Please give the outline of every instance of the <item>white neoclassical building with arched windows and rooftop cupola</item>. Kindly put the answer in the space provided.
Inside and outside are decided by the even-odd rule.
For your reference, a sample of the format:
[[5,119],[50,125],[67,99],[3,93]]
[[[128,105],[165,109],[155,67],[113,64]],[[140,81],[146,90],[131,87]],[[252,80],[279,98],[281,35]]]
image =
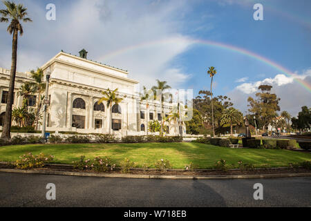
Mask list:
[[[116,135],[146,135],[148,122],[160,119],[160,102],[141,101],[139,81],[129,78],[126,70],[90,61],[86,50],[79,52],[79,57],[66,52],[59,52],[41,68],[46,73],[50,69],[48,88],[48,115],[46,131],[73,131],[78,133],[109,133]],[[0,68],[0,129],[6,111],[6,97],[10,79],[10,70]],[[15,100],[13,108],[22,105],[23,98],[18,95],[19,88],[32,81],[30,73],[17,73]],[[122,102],[110,110],[106,103],[97,104],[102,91],[118,88]],[[38,95],[30,95],[28,106],[35,106]],[[173,104],[164,103],[165,115],[169,115]],[[14,124],[14,122],[12,122]],[[185,126],[166,122],[169,135],[178,135],[178,130],[185,134]],[[149,133],[150,134],[150,133]]]

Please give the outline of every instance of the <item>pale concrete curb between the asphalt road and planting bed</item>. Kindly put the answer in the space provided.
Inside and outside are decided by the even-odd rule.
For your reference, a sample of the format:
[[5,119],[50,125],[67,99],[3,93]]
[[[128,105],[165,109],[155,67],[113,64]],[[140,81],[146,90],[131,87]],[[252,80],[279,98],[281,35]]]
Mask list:
[[264,179],[278,177],[308,177],[311,173],[283,173],[260,175],[136,175],[136,174],[109,174],[109,173],[84,173],[68,171],[23,171],[17,169],[0,169],[4,173],[30,173],[44,175],[69,175],[79,177],[113,177],[132,179],[158,179],[158,180],[227,180],[227,179]]

